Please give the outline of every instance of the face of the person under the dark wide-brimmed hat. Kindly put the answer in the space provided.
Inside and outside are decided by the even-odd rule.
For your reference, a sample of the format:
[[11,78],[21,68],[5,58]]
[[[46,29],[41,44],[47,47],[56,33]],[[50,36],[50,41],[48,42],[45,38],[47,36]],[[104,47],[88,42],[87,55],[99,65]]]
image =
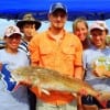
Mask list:
[[32,34],[35,32],[35,24],[32,23],[25,23],[22,28],[22,32],[25,37],[32,37]]

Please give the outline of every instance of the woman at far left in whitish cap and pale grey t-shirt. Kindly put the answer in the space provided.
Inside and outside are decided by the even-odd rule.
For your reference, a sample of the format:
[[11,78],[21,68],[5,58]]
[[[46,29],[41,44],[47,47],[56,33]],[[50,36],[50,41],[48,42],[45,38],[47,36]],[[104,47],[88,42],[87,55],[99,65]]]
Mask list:
[[[0,50],[1,65],[8,64],[10,72],[18,67],[28,66],[26,54],[18,51],[21,42],[20,30],[14,25],[9,26],[4,33],[4,41],[6,47]],[[2,73],[0,75],[2,76]],[[20,86],[15,91],[9,92],[4,80],[0,78],[0,108],[1,110],[29,110],[26,88]]]

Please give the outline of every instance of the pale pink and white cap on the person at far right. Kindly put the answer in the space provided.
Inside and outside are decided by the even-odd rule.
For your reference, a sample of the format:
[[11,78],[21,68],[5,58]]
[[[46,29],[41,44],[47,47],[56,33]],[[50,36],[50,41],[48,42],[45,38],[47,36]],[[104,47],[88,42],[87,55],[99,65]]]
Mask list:
[[92,31],[92,30],[95,30],[95,29],[99,29],[99,30],[107,30],[107,32],[109,31],[108,30],[108,26],[107,26],[107,24],[106,24],[106,22],[105,21],[96,21],[96,22],[94,22],[92,24],[91,24],[91,26],[90,26],[90,32]]

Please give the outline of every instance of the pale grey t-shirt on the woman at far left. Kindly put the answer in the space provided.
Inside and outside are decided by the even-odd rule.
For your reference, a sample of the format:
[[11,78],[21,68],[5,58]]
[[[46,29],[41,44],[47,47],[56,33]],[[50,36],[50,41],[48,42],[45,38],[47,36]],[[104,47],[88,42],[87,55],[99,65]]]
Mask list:
[[[8,64],[10,70],[21,66],[28,66],[29,59],[25,53],[7,53],[0,50],[0,63]],[[0,110],[29,110],[28,91],[24,86],[20,86],[16,91],[9,92],[2,79],[0,79]]]

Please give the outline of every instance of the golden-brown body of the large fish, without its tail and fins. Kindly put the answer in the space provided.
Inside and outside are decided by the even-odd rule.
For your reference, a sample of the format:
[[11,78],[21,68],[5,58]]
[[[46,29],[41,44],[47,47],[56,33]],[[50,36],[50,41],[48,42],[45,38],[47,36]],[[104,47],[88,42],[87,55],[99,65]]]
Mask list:
[[98,91],[95,90],[87,82],[70,78],[61,73],[43,67],[20,67],[12,72],[12,77],[15,81],[26,81],[28,80],[34,87],[38,87],[44,90],[58,90],[66,92],[78,94],[81,89],[86,90],[91,96],[98,96]]

